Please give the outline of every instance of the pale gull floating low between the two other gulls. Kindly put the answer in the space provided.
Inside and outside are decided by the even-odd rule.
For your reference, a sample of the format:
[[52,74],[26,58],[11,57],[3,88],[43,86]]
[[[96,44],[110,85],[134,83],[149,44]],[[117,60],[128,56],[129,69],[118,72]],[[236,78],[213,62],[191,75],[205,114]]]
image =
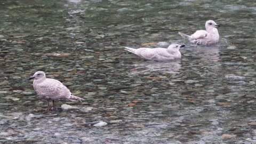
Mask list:
[[138,55],[143,60],[154,60],[154,61],[168,61],[181,58],[181,53],[179,51],[180,47],[185,45],[171,44],[167,49],[162,47],[157,47],[154,49],[141,47],[139,49],[133,49],[130,47],[125,47],[126,51]]

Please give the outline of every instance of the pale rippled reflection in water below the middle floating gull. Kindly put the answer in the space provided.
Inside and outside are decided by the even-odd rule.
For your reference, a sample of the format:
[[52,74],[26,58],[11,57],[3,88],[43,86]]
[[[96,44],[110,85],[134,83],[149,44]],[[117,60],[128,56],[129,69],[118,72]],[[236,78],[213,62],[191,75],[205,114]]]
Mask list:
[[181,67],[181,61],[139,61],[134,63],[134,71],[131,74],[149,74],[154,71],[161,71],[163,73],[178,74]]

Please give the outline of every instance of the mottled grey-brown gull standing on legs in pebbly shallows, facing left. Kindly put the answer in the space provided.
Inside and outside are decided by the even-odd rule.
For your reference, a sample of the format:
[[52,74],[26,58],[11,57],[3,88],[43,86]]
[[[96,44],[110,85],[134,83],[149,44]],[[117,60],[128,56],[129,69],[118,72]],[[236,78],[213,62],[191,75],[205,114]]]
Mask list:
[[49,111],[49,101],[52,100],[52,110],[54,110],[54,100],[69,99],[69,100],[84,100],[73,95],[68,88],[60,81],[52,78],[46,78],[44,71],[36,71],[29,79],[34,79],[33,87],[36,93],[47,100],[47,111]]

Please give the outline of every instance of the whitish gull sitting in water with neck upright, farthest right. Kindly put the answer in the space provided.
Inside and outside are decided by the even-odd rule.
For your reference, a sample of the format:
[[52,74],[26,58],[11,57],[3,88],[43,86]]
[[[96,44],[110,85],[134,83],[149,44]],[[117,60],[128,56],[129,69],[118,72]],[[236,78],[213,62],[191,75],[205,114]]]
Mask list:
[[213,20],[208,20],[205,23],[206,30],[197,30],[191,36],[180,32],[179,34],[183,38],[188,39],[191,43],[198,45],[211,45],[219,42],[220,36],[217,29],[218,27],[220,27],[220,25],[217,25]]

